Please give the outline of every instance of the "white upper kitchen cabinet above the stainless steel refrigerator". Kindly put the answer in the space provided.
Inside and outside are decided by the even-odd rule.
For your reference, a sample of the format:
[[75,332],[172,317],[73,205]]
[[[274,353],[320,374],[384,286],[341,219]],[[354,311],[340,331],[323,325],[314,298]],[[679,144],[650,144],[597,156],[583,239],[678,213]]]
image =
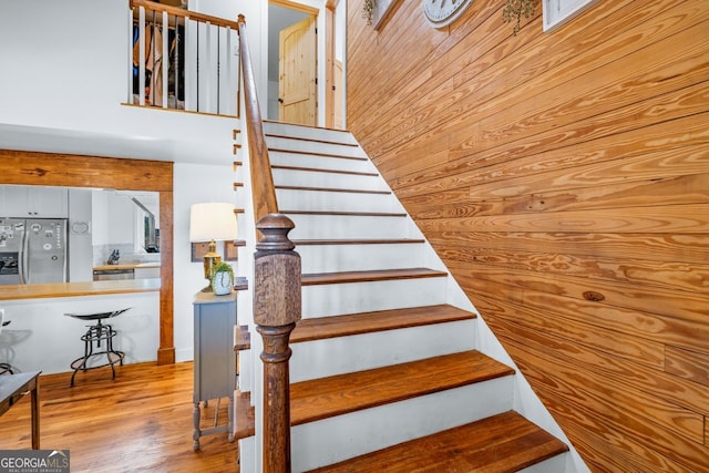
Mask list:
[[69,192],[62,187],[13,186],[0,188],[3,217],[66,218]]

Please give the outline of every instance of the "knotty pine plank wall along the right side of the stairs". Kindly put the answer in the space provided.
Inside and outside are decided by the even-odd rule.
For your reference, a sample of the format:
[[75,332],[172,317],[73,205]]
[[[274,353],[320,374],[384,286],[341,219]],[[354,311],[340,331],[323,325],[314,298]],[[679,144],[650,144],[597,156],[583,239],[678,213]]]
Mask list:
[[709,471],[709,2],[348,1],[348,125],[594,471]]

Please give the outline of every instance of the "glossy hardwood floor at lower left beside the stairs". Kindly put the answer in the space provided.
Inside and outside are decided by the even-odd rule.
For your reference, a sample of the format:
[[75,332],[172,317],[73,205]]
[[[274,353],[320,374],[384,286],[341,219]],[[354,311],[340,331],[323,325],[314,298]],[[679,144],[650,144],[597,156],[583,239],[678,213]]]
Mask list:
[[[192,441],[192,362],[127,364],[40,378],[41,448],[70,450],[72,472],[238,472],[237,443],[226,433]],[[218,423],[227,422],[228,399]],[[214,425],[216,401],[203,415]],[[29,449],[30,399],[0,418],[0,450]]]

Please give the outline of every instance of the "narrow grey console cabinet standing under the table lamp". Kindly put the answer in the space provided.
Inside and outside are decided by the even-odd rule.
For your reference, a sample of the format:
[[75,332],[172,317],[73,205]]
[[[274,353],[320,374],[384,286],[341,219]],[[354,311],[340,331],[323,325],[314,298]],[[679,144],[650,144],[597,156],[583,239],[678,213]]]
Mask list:
[[[234,390],[236,389],[236,291],[226,296],[197,292],[194,301],[194,449],[199,450],[203,435],[228,432],[234,441]],[[213,399],[229,398],[227,425],[201,429],[202,408]]]

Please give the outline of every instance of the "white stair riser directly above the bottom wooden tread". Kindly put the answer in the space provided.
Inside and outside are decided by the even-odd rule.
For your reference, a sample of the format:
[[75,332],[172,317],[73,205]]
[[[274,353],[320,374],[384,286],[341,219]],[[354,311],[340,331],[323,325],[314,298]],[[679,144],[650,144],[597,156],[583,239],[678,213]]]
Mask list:
[[[512,409],[505,377],[291,429],[292,471],[340,462]],[[395,425],[395,429],[393,428]]]

